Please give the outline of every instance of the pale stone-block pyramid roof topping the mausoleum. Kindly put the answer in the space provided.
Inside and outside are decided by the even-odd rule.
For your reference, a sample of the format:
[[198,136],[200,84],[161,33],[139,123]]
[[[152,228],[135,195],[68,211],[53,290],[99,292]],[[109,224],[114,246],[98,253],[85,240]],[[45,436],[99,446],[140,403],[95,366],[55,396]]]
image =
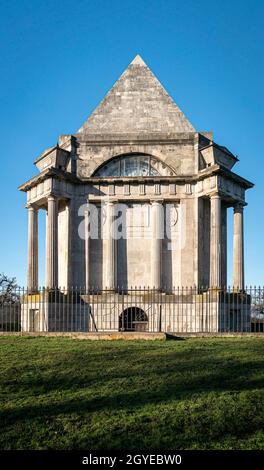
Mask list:
[[78,132],[146,135],[195,129],[137,55]]

